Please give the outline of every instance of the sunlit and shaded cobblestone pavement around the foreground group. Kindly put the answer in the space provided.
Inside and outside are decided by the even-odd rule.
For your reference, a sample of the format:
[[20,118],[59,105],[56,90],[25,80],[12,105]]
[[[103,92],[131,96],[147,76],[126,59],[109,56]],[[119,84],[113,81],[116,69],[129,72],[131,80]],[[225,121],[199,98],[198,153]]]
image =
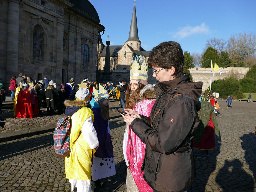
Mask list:
[[[196,181],[188,192],[256,191],[256,103],[233,101],[232,108],[226,108],[221,100],[220,107],[216,147],[206,159],[196,158]],[[122,118],[109,123],[116,175],[103,179],[104,186],[95,191],[126,191],[122,155],[125,123]],[[52,138],[50,132],[0,143],[0,191],[70,191],[64,159],[55,156]]]

